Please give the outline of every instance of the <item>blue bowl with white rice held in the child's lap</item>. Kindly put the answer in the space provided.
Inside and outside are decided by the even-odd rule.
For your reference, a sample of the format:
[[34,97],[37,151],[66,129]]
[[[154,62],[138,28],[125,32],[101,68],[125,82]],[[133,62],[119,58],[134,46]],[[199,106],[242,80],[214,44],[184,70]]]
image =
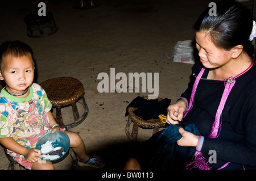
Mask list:
[[42,145],[44,145],[47,141],[52,142],[52,146],[53,148],[56,148],[58,146],[61,146],[64,148],[63,153],[60,153],[59,155],[56,156],[43,156],[42,159],[46,160],[46,161],[55,161],[57,159],[60,159],[61,157],[63,157],[70,146],[70,140],[68,137],[68,134],[62,132],[62,131],[55,131],[54,133],[52,132],[47,132],[46,134],[44,134],[36,143],[36,149],[41,149]]

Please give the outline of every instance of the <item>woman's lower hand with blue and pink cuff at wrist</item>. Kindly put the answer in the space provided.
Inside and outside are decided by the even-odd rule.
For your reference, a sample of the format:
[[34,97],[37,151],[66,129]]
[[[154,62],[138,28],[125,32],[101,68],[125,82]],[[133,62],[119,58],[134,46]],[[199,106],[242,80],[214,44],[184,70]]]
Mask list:
[[199,136],[185,131],[182,127],[179,127],[179,133],[182,135],[180,140],[177,140],[179,146],[197,146],[199,141]]

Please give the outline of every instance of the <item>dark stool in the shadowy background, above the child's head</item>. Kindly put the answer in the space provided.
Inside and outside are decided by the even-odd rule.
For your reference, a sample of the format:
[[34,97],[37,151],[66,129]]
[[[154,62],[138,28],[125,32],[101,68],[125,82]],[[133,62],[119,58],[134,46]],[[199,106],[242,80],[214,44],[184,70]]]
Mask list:
[[25,16],[24,22],[27,24],[27,35],[30,37],[49,36],[58,30],[53,14],[49,11],[46,11],[46,16],[39,16],[38,12],[32,12]]

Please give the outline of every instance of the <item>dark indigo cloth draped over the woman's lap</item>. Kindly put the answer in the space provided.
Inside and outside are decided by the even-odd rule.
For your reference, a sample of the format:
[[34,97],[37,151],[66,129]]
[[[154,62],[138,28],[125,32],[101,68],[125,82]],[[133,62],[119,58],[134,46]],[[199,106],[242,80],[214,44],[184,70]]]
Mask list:
[[[200,135],[195,124],[188,124],[185,131]],[[170,124],[162,131],[155,133],[141,145],[137,158],[142,169],[169,170],[179,169],[191,161],[196,152],[195,147],[179,146],[176,141],[181,138],[177,125]]]

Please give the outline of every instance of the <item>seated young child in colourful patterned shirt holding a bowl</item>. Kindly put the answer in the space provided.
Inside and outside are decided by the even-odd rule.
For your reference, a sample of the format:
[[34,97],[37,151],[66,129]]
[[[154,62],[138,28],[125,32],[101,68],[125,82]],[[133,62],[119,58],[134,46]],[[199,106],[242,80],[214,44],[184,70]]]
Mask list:
[[[0,144],[26,169],[54,169],[52,162],[39,161],[42,155],[35,145],[44,133],[63,129],[50,111],[46,92],[33,83],[34,69],[32,49],[27,44],[7,41],[0,46],[0,79],[6,83],[0,94]],[[105,166],[98,155],[86,154],[79,134],[64,132],[79,166]]]

